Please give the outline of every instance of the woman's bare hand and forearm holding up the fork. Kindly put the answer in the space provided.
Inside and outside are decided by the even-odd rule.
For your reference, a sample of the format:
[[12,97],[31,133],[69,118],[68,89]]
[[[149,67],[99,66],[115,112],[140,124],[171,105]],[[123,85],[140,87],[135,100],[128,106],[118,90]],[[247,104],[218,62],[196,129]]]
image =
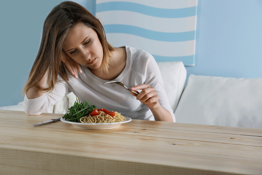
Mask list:
[[173,117],[171,113],[164,109],[158,102],[159,97],[153,87],[150,87],[149,84],[139,84],[131,88],[132,91],[142,90],[138,95],[135,95],[131,92],[133,96],[136,96],[137,99],[148,106],[151,112],[154,115],[156,121],[170,121],[173,122]]

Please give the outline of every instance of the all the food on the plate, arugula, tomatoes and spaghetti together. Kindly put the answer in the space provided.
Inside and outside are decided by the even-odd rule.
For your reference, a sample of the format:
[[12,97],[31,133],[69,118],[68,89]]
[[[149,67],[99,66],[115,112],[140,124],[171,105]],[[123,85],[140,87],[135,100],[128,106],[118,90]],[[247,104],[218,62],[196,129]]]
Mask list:
[[62,118],[77,123],[114,123],[126,120],[121,113],[97,109],[96,105],[91,105],[87,100],[84,103],[77,100],[68,110]]

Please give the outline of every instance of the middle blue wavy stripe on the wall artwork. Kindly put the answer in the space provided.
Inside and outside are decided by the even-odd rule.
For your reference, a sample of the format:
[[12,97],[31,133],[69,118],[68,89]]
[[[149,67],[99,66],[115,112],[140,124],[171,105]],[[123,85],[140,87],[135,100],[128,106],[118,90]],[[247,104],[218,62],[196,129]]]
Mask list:
[[108,24],[103,26],[106,33],[125,33],[156,41],[190,41],[195,39],[195,30],[179,33],[167,33],[144,29],[133,25]]

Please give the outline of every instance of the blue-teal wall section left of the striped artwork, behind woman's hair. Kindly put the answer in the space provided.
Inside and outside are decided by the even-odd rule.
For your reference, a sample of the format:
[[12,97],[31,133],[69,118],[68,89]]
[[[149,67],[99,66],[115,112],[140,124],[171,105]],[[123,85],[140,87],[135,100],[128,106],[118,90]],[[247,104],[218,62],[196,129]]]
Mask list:
[[[0,5],[0,107],[23,101],[22,88],[37,55],[43,22],[63,0],[12,0]],[[75,0],[95,14],[95,0]]]

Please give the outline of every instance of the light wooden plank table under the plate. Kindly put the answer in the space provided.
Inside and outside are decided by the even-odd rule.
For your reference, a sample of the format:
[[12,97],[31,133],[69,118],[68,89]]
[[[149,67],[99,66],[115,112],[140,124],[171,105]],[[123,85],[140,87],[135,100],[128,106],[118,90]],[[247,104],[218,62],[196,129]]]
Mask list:
[[262,130],[132,120],[84,130],[0,110],[0,174],[262,174]]

